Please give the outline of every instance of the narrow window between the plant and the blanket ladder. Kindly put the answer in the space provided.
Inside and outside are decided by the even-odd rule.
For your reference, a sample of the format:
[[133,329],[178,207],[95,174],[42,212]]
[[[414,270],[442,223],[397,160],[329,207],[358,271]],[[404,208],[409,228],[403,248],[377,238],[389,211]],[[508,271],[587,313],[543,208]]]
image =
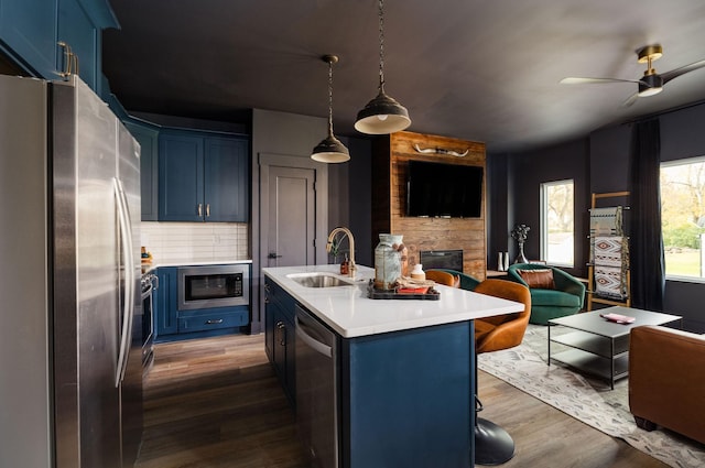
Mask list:
[[573,179],[541,184],[541,257],[546,263],[573,268]]

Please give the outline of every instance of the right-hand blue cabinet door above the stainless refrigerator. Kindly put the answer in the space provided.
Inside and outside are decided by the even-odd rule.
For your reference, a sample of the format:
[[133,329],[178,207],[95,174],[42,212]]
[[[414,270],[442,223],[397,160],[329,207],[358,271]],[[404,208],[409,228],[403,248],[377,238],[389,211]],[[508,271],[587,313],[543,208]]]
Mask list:
[[[58,0],[58,41],[70,46],[78,58],[78,76],[98,92],[98,39],[100,32],[90,21],[78,0]],[[63,50],[59,48],[59,54]],[[57,57],[57,68],[64,69],[65,57]],[[75,72],[75,69],[74,69]]]

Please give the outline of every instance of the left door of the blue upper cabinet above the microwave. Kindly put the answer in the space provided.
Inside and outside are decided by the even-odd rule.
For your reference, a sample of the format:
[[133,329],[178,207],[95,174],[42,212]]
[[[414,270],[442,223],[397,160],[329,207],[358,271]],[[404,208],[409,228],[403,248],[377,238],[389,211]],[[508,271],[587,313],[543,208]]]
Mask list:
[[204,140],[177,132],[159,135],[159,219],[203,221]]

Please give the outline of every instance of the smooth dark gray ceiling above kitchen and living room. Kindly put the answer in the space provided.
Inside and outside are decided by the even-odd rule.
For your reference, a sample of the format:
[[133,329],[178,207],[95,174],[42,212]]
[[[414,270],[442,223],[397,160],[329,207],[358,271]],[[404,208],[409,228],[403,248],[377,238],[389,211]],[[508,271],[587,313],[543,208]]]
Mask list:
[[[377,95],[377,0],[110,0],[121,30],[104,35],[104,70],[130,111],[238,120],[259,108],[327,117],[356,134]],[[637,84],[560,85],[565,76],[639,79],[636,50],[659,73],[705,58],[703,0],[387,0],[387,92],[410,131],[521,151],[705,100],[705,68],[660,95],[621,104]],[[322,135],[323,138],[324,135]]]

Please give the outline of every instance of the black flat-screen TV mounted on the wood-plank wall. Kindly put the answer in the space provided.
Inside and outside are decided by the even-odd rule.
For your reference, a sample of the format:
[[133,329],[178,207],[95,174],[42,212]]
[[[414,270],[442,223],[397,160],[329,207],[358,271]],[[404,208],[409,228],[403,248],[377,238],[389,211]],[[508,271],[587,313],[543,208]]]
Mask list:
[[409,161],[406,216],[479,218],[482,167]]

